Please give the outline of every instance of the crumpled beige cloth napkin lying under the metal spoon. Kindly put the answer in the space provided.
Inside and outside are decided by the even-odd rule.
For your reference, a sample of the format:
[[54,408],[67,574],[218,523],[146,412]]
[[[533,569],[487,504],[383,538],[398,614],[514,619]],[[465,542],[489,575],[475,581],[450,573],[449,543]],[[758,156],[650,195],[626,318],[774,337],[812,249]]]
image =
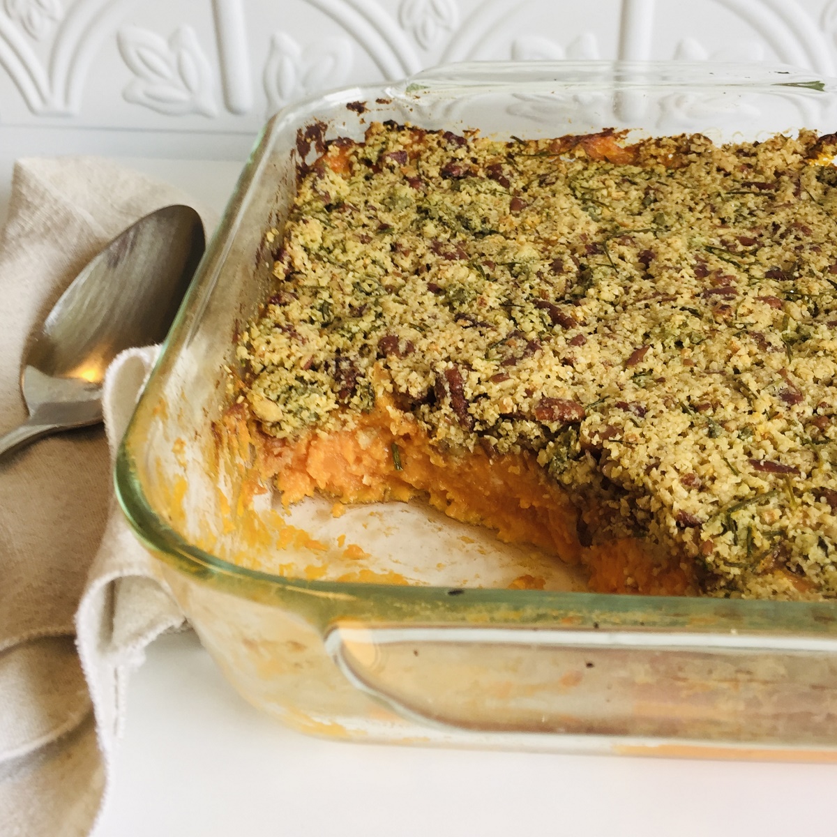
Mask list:
[[[33,327],[107,241],[169,203],[193,202],[105,160],[18,162],[0,234],[0,434],[26,418],[18,375]],[[107,439],[101,428],[77,430],[0,460],[4,837],[90,833],[127,675],[151,639],[182,624],[111,487],[111,456],[154,357],[131,350],[110,367]]]

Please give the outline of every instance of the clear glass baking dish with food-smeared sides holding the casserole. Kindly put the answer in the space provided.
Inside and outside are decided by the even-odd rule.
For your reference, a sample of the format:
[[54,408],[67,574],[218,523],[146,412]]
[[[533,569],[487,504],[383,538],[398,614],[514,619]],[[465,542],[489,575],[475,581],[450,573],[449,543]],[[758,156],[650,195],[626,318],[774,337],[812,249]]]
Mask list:
[[[223,461],[213,425],[234,335],[269,292],[265,233],[281,230],[297,166],[322,137],[359,139],[391,119],[500,138],[614,127],[755,140],[828,133],[835,104],[832,80],[784,67],[461,64],[271,119],[116,464],[126,515],[235,688],[300,730],[367,741],[837,760],[833,604],[605,595],[572,579],[516,590],[444,573],[398,584],[264,572],[284,524],[248,469],[248,440]],[[427,558],[420,538],[395,537],[403,561]],[[456,547],[445,549],[455,564]]]

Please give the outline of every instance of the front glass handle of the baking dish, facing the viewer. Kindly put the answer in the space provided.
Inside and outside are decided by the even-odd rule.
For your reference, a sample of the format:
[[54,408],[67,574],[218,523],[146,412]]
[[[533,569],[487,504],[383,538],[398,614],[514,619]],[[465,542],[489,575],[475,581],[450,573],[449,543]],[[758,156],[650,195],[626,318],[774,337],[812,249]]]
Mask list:
[[337,624],[331,659],[423,724],[837,746],[837,639]]

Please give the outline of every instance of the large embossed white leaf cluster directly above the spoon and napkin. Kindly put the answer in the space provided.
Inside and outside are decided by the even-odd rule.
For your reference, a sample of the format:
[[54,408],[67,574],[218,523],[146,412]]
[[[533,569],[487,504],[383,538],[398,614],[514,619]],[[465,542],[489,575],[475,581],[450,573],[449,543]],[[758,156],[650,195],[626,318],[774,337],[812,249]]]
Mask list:
[[169,116],[215,116],[213,72],[191,26],[177,28],[166,41],[133,26],[117,36],[119,51],[135,78],[123,94],[129,102]]

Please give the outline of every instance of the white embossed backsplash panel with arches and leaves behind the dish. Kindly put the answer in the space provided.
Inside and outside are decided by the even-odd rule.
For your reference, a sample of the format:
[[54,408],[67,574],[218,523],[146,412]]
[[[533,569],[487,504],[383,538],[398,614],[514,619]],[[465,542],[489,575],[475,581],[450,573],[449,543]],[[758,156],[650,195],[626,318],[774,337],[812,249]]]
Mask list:
[[0,0],[0,126],[252,136],[441,62],[617,57],[837,74],[837,0]]

